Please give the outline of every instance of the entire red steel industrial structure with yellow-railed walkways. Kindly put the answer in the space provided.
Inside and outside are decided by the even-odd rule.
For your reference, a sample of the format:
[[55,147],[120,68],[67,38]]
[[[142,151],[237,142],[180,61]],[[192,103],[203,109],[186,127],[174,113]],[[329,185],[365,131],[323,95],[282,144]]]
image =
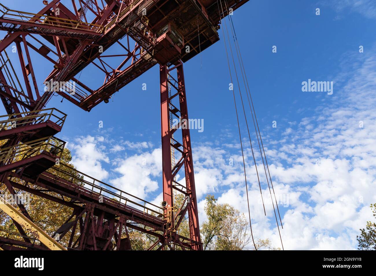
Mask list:
[[[0,4],[0,30],[7,32],[0,42],[0,99],[8,113],[0,117],[0,140],[4,141],[0,148],[1,183],[13,195],[16,189],[71,208],[71,216],[53,235],[61,239],[69,233],[69,243],[62,249],[129,250],[127,229],[131,228],[156,237],[150,250],[202,250],[190,131],[174,127],[172,118],[188,119],[183,62],[217,42],[221,19],[247,0],[42,2],[45,6],[36,13]],[[106,54],[113,45],[120,51]],[[9,48],[17,53],[22,75],[16,74],[6,51]],[[32,60],[36,54],[38,60]],[[109,65],[109,57],[119,58],[118,65]],[[39,59],[50,64],[50,73],[43,79],[35,74]],[[90,111],[102,101],[108,103],[115,92],[157,64],[161,81],[161,206],[60,163],[65,142],[54,135],[62,130],[67,115],[46,109],[55,94]],[[77,77],[88,65],[102,73],[102,86],[90,87]],[[76,83],[74,89],[70,89],[70,81]],[[41,93],[41,82],[52,85]],[[176,181],[178,172],[185,175],[185,183]],[[185,198],[181,205],[176,205],[177,193]],[[19,231],[13,234],[21,238],[0,236],[0,247],[59,249],[41,229],[32,227],[22,202],[18,207],[21,212],[10,216]],[[178,231],[186,216],[189,237]],[[25,226],[48,244],[28,235]]]

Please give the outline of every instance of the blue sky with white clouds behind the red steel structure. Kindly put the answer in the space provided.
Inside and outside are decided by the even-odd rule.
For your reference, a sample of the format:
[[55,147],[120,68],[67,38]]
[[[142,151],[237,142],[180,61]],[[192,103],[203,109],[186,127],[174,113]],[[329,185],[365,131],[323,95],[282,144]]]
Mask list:
[[[2,3],[23,11],[37,12],[42,7],[39,2]],[[376,2],[251,0],[234,12],[232,20],[274,189],[285,199],[279,204],[285,249],[355,249],[358,229],[371,219],[368,206],[376,202]],[[221,30],[220,38],[184,64],[190,118],[204,120],[202,133],[191,130],[200,222],[206,219],[207,193],[247,212]],[[272,53],[273,45],[277,53]],[[359,53],[359,45],[364,53]],[[36,59],[37,55],[34,69],[42,83],[50,68],[36,66]],[[67,100],[61,103],[61,97],[53,97],[48,107],[68,114],[58,137],[68,142],[79,170],[159,204],[158,69],[153,67],[89,113]],[[308,79],[334,81],[333,95],[302,92],[302,81]],[[103,82],[89,68],[80,81],[94,89]],[[147,90],[142,90],[143,83]],[[3,107],[0,111],[5,113]],[[99,121],[103,128],[98,128]],[[244,117],[241,129],[246,137]],[[255,133],[251,135],[255,139]],[[245,139],[243,145],[254,234],[280,246],[270,198],[264,199],[267,217],[259,202],[249,141]],[[235,160],[233,166],[229,158]],[[266,197],[267,184],[263,182],[262,188]]]

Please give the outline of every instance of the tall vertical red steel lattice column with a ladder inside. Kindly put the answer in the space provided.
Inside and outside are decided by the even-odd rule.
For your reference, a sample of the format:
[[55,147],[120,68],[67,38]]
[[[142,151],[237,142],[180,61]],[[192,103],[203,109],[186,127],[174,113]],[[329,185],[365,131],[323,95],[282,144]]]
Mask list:
[[[172,72],[176,71],[177,77],[172,76]],[[177,82],[176,86],[170,86],[170,79],[174,78]],[[200,239],[200,226],[198,220],[198,210],[197,210],[197,197],[196,197],[196,187],[194,181],[193,172],[193,159],[192,159],[192,149],[191,149],[191,138],[190,130],[186,127],[181,127],[182,142],[177,142],[176,131],[179,128],[173,128],[171,125],[171,106],[173,98],[179,100],[179,110],[180,117],[182,120],[188,122],[188,110],[186,104],[186,91],[185,82],[183,74],[183,63],[179,61],[176,66],[168,68],[167,65],[160,66],[160,81],[161,81],[161,137],[162,137],[162,182],[163,182],[163,200],[167,202],[165,207],[165,216],[169,216],[168,210],[177,210],[174,206],[174,178],[175,175],[182,169],[184,165],[184,175],[185,175],[185,189],[191,191],[189,194],[185,194],[185,200],[188,199],[188,204],[184,210],[181,207],[175,216],[175,211],[172,212],[174,216],[171,221],[172,225],[167,225],[165,228],[165,241],[171,240],[180,246],[180,237],[176,235],[176,231],[182,222],[185,213],[188,213],[189,229],[190,229],[190,240],[193,241],[190,248],[194,250],[202,250],[202,243]],[[171,96],[173,94],[171,88],[176,89],[177,95]],[[175,136],[174,136],[175,134]],[[172,149],[174,149],[173,142],[177,142],[182,145],[182,154],[180,160],[177,164],[173,164],[171,161],[171,156],[174,156]],[[178,189],[175,189],[178,190]],[[184,201],[185,202],[185,201]],[[184,203],[183,203],[184,204]],[[180,213],[180,211],[182,211]],[[180,215],[179,219],[177,218]],[[176,220],[177,219],[177,220]],[[168,218],[167,218],[168,221]],[[167,222],[168,223],[168,222]],[[169,232],[170,231],[170,232]],[[170,234],[170,237],[169,237]]]

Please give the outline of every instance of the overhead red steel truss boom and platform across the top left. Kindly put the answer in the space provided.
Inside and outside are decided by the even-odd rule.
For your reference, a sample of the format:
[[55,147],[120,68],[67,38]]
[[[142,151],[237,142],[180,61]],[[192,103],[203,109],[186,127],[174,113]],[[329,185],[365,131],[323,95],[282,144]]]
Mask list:
[[[236,9],[246,2],[247,0],[229,0],[227,4],[229,5],[228,8]],[[21,69],[23,70],[24,86],[27,90],[27,95],[21,90],[11,91],[8,84],[3,83],[5,91],[0,89],[0,98],[4,104],[10,101],[13,109],[16,108],[16,103],[29,110],[42,109],[52,95],[47,91],[44,95],[39,96],[29,48],[44,56],[55,67],[45,80],[51,78],[56,79],[56,81],[75,80],[75,76],[91,64],[105,73],[105,82],[98,89],[91,89],[80,83],[81,87],[77,89],[74,95],[57,91],[62,97],[89,111],[102,101],[108,100],[115,92],[153,67],[157,63],[154,58],[156,54],[165,57],[165,53],[157,53],[159,50],[157,51],[156,33],[167,21],[174,22],[183,30],[189,27],[190,31],[184,35],[186,36],[186,45],[190,46],[191,51],[189,53],[183,51],[180,55],[183,60],[188,60],[218,41],[219,37],[215,29],[219,27],[219,20],[226,15],[218,14],[215,1],[212,3],[209,1],[203,5],[199,0],[185,0],[178,4],[181,8],[176,7],[176,3],[171,3],[168,0],[108,0],[105,6],[103,2],[100,6],[97,1],[73,0],[72,4],[73,12],[66,8],[61,0],[53,0],[37,14],[27,12],[19,12],[18,14],[18,11],[9,12],[7,8],[4,9],[4,14],[0,16],[0,29],[3,27],[8,28],[7,30],[12,28],[12,30],[0,42],[0,53],[12,43],[16,44],[17,52],[20,55]],[[171,4],[175,8],[166,9],[166,6]],[[144,9],[147,16],[141,12]],[[56,15],[56,11],[60,11],[60,13]],[[196,14],[194,11],[196,11]],[[26,15],[23,15],[23,13]],[[94,19],[89,23],[83,22],[86,21],[86,13],[94,15]],[[12,16],[9,17],[9,14]],[[176,17],[179,17],[180,14],[184,15],[184,20],[187,21],[183,25],[176,21]],[[28,18],[29,20],[27,20]],[[196,32],[197,29],[199,29],[198,33]],[[34,34],[41,35],[53,46],[45,45],[36,39],[33,36]],[[40,45],[36,47],[30,41],[27,41],[28,37],[34,38]],[[103,51],[106,51],[122,38],[127,41],[126,45],[122,45],[126,51],[125,55],[124,52],[107,56],[102,54]],[[135,42],[135,47],[132,48],[132,43],[129,44],[130,40]],[[24,47],[24,55],[21,45]],[[52,50],[52,48],[56,48],[56,50]],[[54,53],[58,57],[58,61],[47,56],[49,53]],[[104,66],[101,57],[115,56],[126,56],[126,58],[119,63],[117,68],[102,68],[102,66],[106,66]],[[25,62],[24,57],[26,57],[27,62]],[[170,62],[176,60],[173,59]],[[32,83],[30,83],[29,75],[32,78]],[[0,80],[4,81],[1,75]],[[35,88],[35,91],[32,91],[32,87]],[[16,95],[11,96],[13,93]],[[6,97],[6,94],[9,97]],[[33,94],[35,94],[35,97]],[[23,101],[16,101],[19,97],[23,98]],[[18,111],[9,108],[7,110],[8,113]]]

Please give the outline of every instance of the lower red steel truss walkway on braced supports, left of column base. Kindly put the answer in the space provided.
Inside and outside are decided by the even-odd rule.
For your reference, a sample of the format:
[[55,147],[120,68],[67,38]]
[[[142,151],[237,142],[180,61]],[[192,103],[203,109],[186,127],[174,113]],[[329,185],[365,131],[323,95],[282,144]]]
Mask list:
[[[8,180],[8,178],[11,180]],[[127,228],[153,235],[159,240],[163,239],[163,236],[158,234],[158,232],[162,233],[163,231],[163,223],[158,218],[147,214],[143,216],[142,213],[139,213],[138,210],[132,207],[126,207],[123,206],[123,204],[114,204],[107,199],[104,199],[103,203],[100,203],[98,195],[89,197],[88,192],[90,190],[74,185],[73,183],[71,185],[75,187],[75,189],[73,187],[73,189],[67,189],[68,186],[62,183],[60,183],[59,187],[51,187],[52,183],[55,181],[44,184],[45,181],[42,180],[43,177],[38,177],[39,180],[33,181],[26,176],[11,172],[8,178],[6,178],[4,182],[9,183],[7,187],[10,186],[13,191],[14,189],[22,190],[73,209],[71,216],[52,236],[52,238],[56,240],[61,240],[70,232],[67,246],[68,250],[130,250],[132,247],[130,246]],[[24,181],[25,185],[17,183],[20,181],[14,182],[14,179]],[[55,179],[56,182],[64,181],[64,179],[61,178],[55,177]],[[26,185],[26,183],[36,184],[42,189],[32,189],[29,185]],[[77,191],[77,188],[81,189]],[[56,194],[53,195],[50,192]],[[95,193],[93,193],[93,195],[94,194]],[[58,195],[61,197],[58,197]],[[67,201],[64,197],[70,200]],[[15,223],[18,223],[17,220]],[[136,225],[133,223],[136,223]],[[143,227],[139,227],[137,224]],[[3,242],[5,244],[13,244],[14,246],[32,249],[47,249],[32,243],[22,227],[19,231],[21,232],[21,237],[26,237],[24,242],[0,238],[0,244]],[[78,238],[76,237],[77,233],[80,233]],[[125,237],[123,237],[124,234]],[[40,239],[38,238],[38,240]],[[19,247],[12,248],[17,249]],[[8,249],[8,247],[5,247],[5,249]]]

